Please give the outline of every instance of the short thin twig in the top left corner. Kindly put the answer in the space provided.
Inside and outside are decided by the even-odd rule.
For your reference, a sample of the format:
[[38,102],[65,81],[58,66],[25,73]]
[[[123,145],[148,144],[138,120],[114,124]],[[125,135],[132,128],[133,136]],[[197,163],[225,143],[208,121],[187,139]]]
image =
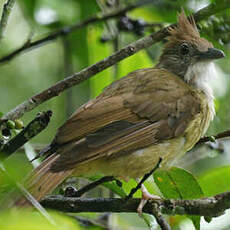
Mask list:
[[1,21],[0,21],[0,40],[2,40],[2,38],[4,36],[6,26],[8,23],[8,19],[9,19],[11,11],[13,9],[15,1],[16,0],[7,0],[3,6],[2,17],[1,17]]

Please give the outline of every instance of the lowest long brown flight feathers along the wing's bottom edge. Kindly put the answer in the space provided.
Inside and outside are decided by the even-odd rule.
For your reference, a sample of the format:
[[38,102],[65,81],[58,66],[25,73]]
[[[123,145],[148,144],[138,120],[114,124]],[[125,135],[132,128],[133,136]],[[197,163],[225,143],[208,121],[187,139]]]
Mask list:
[[[82,162],[85,163],[115,153],[133,151],[155,143],[156,139],[154,136],[157,132],[157,127],[160,126],[160,122],[152,124],[145,122],[140,124],[140,126],[143,128],[136,128],[136,131],[130,130],[127,135],[114,138],[112,141],[96,148],[89,147],[85,140],[68,152],[60,152],[60,157],[52,164],[51,170],[58,172],[63,169],[72,169],[76,164]],[[61,148],[59,151],[61,151]]]

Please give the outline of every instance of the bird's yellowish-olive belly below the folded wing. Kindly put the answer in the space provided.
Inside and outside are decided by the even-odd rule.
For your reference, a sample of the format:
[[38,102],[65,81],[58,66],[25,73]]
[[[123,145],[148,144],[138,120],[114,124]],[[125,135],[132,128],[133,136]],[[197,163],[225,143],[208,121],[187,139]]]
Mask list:
[[75,175],[112,175],[126,181],[130,178],[140,178],[154,168],[159,157],[163,159],[162,167],[170,166],[178,156],[184,153],[184,143],[185,138],[178,137],[119,157],[98,159],[79,165]]

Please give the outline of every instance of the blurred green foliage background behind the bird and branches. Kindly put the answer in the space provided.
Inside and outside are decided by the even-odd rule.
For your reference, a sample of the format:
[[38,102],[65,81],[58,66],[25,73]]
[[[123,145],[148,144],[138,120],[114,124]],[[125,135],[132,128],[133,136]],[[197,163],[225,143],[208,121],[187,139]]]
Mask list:
[[[7,113],[24,100],[48,88],[57,81],[102,60],[142,36],[175,23],[177,12],[181,10],[181,7],[187,13],[192,13],[213,2],[220,4],[221,1],[153,0],[151,4],[138,7],[126,15],[105,22],[89,24],[87,27],[69,33],[67,36],[59,37],[22,52],[9,61],[1,61],[2,57],[30,40],[42,38],[55,30],[92,17],[96,13],[108,13],[134,2],[136,1],[16,1],[10,14],[5,36],[0,44],[0,112],[2,114]],[[3,9],[4,3],[5,1],[0,0],[0,9]],[[216,62],[218,78],[213,80],[213,89],[216,96],[216,117],[211,123],[208,135],[214,135],[230,129],[230,10],[222,11],[203,20],[198,24],[198,27],[203,37],[211,41],[216,48],[222,49],[226,54],[226,58]],[[26,113],[22,118],[24,125],[28,124],[40,111],[48,109],[53,111],[51,122],[46,130],[26,144],[25,150],[27,154],[30,154],[30,152],[33,154],[34,150],[36,151],[47,145],[53,139],[58,127],[71,113],[90,98],[97,96],[105,86],[133,70],[154,66],[164,42],[162,41],[146,50],[140,51],[80,85],[65,91],[58,97],[43,103],[33,111]],[[208,145],[194,148],[177,165],[188,169],[197,176],[205,195],[214,195],[230,190],[229,154],[230,141],[225,138],[218,141],[218,143],[209,143]],[[24,150],[18,151],[18,153],[11,156],[7,160],[7,164],[11,173],[19,178],[24,177],[32,167],[28,163]],[[84,180],[77,181],[78,185],[84,185],[85,183]],[[152,181],[146,183],[150,191],[156,191],[156,186]],[[135,182],[131,181],[125,184],[123,189],[128,192],[134,185]],[[104,188],[100,188],[90,194],[90,196],[101,195],[115,196],[114,193]],[[137,196],[139,195],[138,193]],[[12,220],[11,218],[16,218],[16,222],[20,219],[17,219],[17,215],[12,213],[4,215],[0,219],[5,218],[7,220],[8,218],[8,221],[10,221]],[[20,214],[18,215],[20,216]],[[100,227],[100,222],[99,225],[90,225],[90,229],[148,229],[144,221],[138,218],[136,214],[106,214],[104,216],[85,214],[84,218],[109,222],[109,227]],[[185,218],[170,217],[169,221],[174,226],[173,229],[193,229],[190,221]],[[5,225],[0,223],[0,228],[4,230],[13,229],[9,228],[6,223],[7,221],[4,222]],[[21,223],[21,226],[30,226],[28,218],[25,218],[23,224]],[[84,227],[83,225],[72,226],[72,222],[70,225],[71,227],[66,229],[87,228],[85,225]],[[19,225],[14,229],[20,229]],[[63,229],[65,228],[63,227]],[[155,226],[152,229],[157,229],[157,227]],[[226,214],[214,219],[209,224],[203,221],[201,229],[230,229],[229,215]]]

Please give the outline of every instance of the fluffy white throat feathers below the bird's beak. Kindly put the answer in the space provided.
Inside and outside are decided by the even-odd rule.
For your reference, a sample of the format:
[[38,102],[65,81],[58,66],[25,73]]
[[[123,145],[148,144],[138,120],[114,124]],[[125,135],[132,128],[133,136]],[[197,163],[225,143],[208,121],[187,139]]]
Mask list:
[[190,65],[184,76],[185,82],[192,85],[197,90],[202,91],[208,100],[208,106],[211,111],[211,118],[215,115],[214,95],[210,86],[211,78],[217,74],[216,68],[211,61],[201,61],[194,65]]

